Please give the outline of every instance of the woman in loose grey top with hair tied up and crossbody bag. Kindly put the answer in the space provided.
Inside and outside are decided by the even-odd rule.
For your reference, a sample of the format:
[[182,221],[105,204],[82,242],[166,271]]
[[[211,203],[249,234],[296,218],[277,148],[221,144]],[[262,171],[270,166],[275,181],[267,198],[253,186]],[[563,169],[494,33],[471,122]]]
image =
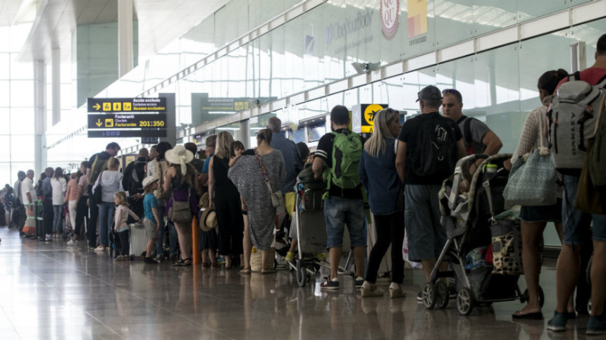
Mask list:
[[[271,258],[276,208],[271,203],[271,193],[265,182],[270,182],[271,191],[278,191],[280,183],[286,178],[282,153],[273,149],[271,144],[272,132],[269,129],[260,130],[256,134],[256,149],[254,154],[249,151],[238,160],[228,172],[242,196],[242,211],[247,213],[245,223],[244,265],[243,274],[250,272],[251,244],[261,251],[261,274],[275,272]],[[265,173],[265,175],[264,175]]]

